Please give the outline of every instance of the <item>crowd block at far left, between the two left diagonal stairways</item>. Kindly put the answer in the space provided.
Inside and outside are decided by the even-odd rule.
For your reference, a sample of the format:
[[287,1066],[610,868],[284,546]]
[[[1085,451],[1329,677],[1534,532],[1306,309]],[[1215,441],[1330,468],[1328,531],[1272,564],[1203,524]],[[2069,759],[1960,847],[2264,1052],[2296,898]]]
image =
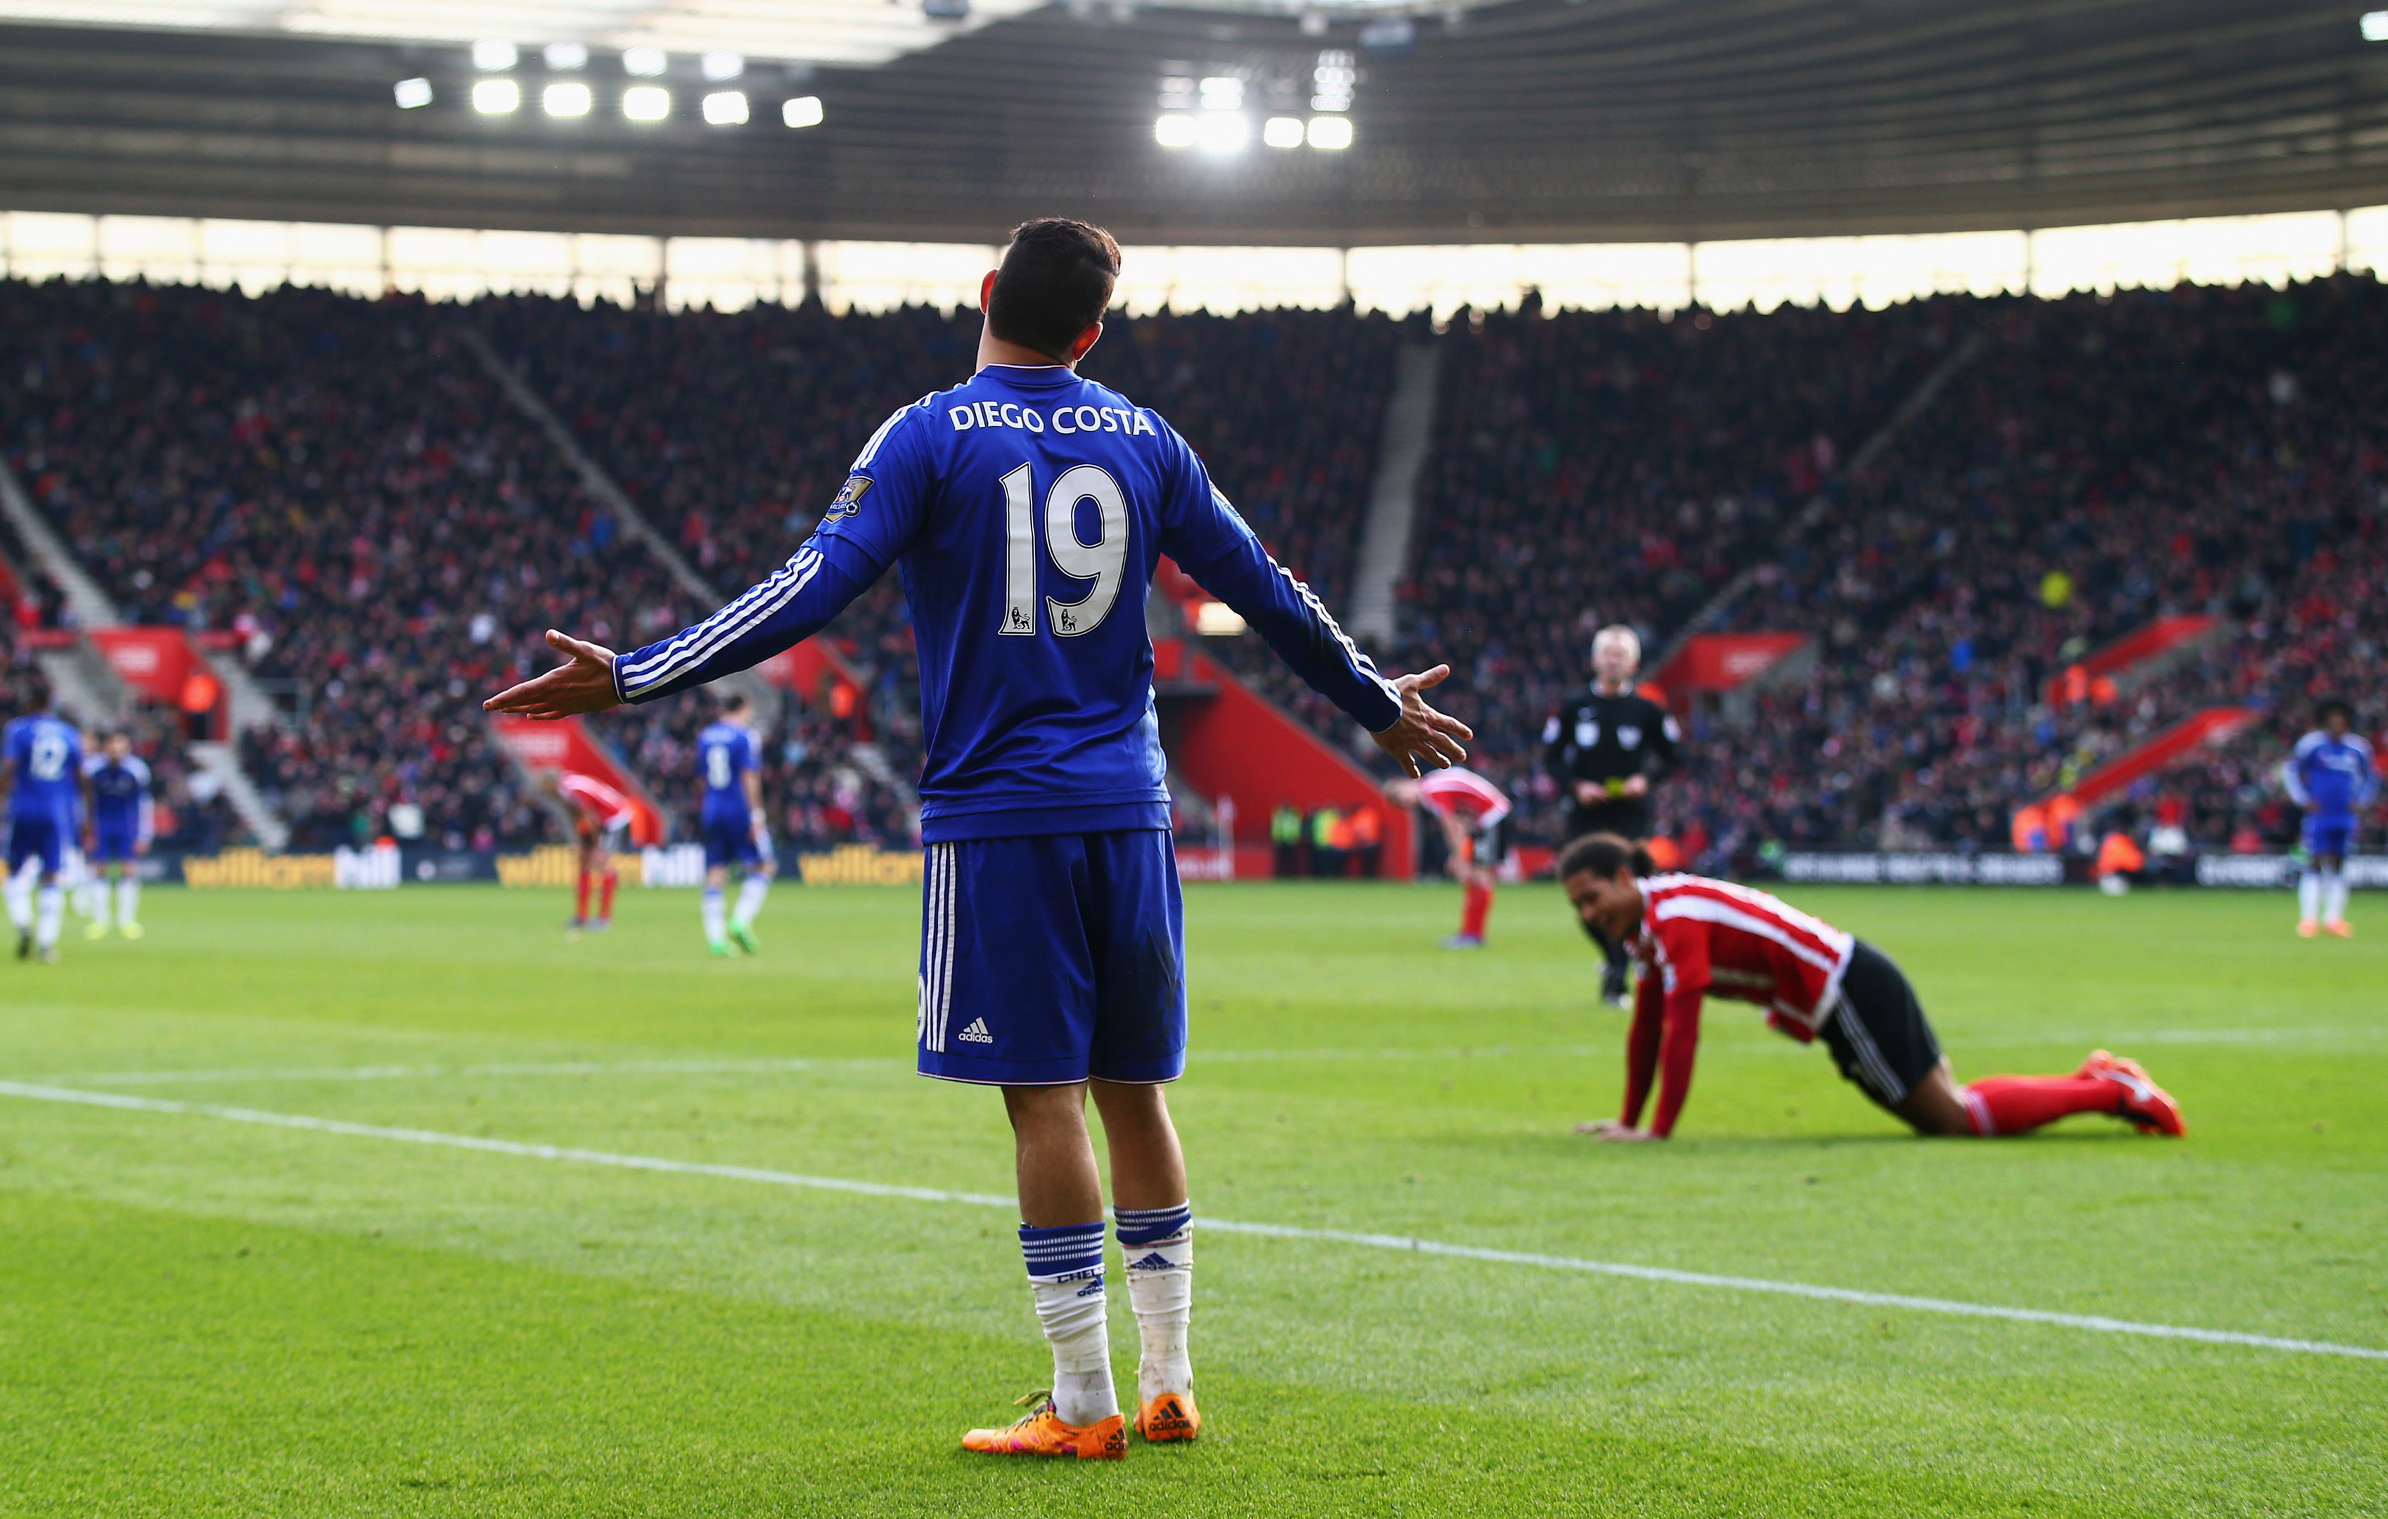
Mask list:
[[301,848],[523,845],[554,819],[480,721],[549,664],[681,609],[413,299],[0,284],[0,447],[129,616],[232,631],[298,693],[246,736]]

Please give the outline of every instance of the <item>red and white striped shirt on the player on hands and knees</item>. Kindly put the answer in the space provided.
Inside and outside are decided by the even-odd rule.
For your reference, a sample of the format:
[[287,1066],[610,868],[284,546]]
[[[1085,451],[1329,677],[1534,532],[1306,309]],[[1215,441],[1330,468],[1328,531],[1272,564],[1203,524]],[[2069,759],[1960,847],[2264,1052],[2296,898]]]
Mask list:
[[1817,1037],[1841,998],[1858,941],[1798,908],[1707,877],[1648,877],[1643,924],[1631,951],[1643,963],[1626,1034],[1624,1120],[1641,1120],[1657,1077],[1650,1130],[1674,1130],[1691,1094],[1700,1048],[1700,998],[1758,1003],[1767,1022],[1801,1044]]

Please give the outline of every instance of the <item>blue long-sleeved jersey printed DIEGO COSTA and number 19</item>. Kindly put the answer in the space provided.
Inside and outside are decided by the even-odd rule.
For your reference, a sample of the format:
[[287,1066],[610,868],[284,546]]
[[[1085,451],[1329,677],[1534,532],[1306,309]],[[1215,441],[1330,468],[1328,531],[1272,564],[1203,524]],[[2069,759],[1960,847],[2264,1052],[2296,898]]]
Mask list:
[[1144,595],[1161,554],[1235,607],[1368,731],[1392,685],[1151,411],[1063,365],[989,365],[864,444],[786,568],[695,628],[621,654],[652,702],[817,633],[891,564],[919,650],[922,836],[1165,829]]

